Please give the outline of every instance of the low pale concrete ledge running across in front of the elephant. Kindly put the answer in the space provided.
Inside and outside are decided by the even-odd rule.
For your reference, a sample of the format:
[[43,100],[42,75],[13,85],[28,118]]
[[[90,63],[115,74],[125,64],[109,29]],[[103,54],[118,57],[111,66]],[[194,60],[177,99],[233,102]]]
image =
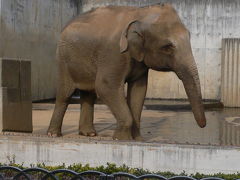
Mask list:
[[150,171],[174,173],[237,173],[240,148],[49,138],[47,136],[0,135],[0,163],[45,163],[46,165],[115,163]]

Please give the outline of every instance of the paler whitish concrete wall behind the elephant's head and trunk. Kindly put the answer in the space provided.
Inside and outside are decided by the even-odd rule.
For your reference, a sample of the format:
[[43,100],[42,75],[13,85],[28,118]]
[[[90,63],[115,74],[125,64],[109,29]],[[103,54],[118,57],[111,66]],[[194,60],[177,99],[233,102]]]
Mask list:
[[[221,40],[240,37],[238,0],[82,0],[82,11],[106,5],[144,6],[169,2],[191,32],[193,53],[200,74],[203,98],[219,100]],[[173,73],[151,72],[149,98],[186,98],[182,83]]]

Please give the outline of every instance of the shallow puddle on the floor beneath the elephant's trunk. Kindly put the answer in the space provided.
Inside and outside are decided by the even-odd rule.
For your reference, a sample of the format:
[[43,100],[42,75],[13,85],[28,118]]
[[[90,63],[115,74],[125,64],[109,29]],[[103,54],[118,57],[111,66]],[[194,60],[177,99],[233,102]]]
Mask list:
[[[160,120],[146,117],[143,136],[151,142],[240,146],[240,109],[207,111],[206,118],[207,126],[201,129],[191,111],[174,112]],[[149,121],[155,124],[149,127]]]

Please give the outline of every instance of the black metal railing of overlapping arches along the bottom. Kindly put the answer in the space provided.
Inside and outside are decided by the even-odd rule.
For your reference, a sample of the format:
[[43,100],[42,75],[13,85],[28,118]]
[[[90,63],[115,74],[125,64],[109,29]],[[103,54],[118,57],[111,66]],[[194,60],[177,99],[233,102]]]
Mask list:
[[[42,168],[20,169],[13,166],[0,166],[0,180],[197,180],[187,176],[175,176],[166,178],[156,174],[145,174],[135,176],[132,174],[118,172],[105,174],[99,171],[84,171],[77,173],[72,170],[58,169],[48,171]],[[216,177],[203,178],[201,180],[224,180]],[[236,179],[240,180],[240,179]]]

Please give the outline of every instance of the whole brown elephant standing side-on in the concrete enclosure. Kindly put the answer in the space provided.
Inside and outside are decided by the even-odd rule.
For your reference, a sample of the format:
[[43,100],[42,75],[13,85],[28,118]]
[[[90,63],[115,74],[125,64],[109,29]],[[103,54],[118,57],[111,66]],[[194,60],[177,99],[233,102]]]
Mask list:
[[140,118],[150,69],[175,72],[197,124],[206,126],[190,32],[170,4],[106,6],[83,13],[61,32],[56,54],[57,95],[48,136],[61,136],[69,99],[79,89],[79,134],[97,135],[93,113],[100,98],[117,120],[113,139],[142,140]]

